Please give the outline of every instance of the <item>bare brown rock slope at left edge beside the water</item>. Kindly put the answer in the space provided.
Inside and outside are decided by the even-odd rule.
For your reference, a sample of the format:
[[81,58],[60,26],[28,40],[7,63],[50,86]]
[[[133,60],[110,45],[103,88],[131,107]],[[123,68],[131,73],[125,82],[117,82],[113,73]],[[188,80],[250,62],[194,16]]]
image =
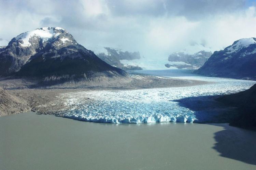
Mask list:
[[29,104],[0,88],[0,116],[30,111]]

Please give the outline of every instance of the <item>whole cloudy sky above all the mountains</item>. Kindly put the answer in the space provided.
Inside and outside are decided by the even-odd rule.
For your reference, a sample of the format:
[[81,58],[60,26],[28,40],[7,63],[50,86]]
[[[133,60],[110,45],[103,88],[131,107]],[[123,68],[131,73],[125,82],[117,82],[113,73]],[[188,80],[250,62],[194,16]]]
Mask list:
[[10,41],[35,28],[62,27],[85,47],[117,47],[166,60],[191,44],[219,50],[255,37],[253,5],[246,0],[2,1],[0,37]]

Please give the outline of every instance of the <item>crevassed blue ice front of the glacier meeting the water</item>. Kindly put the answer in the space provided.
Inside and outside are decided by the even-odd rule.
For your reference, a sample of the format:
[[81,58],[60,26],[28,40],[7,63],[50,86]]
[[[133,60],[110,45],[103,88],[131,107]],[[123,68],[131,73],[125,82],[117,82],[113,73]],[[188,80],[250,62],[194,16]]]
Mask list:
[[65,117],[100,123],[193,122],[189,109],[176,109],[174,102],[91,101],[69,110]]

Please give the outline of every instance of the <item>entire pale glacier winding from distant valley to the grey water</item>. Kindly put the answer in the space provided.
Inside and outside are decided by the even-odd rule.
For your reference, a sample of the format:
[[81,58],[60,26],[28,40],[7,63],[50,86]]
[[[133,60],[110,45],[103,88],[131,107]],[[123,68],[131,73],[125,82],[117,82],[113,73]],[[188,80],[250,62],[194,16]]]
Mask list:
[[[210,84],[142,90],[101,90],[68,93],[66,105],[70,110],[64,117],[100,123],[204,122],[211,110],[195,113],[197,109],[180,105],[177,100],[189,99],[193,107],[202,107],[193,97],[237,93],[249,89],[256,81],[201,77],[189,70],[139,71],[139,73],[173,78],[213,82]],[[83,98],[89,97],[89,102]],[[192,99],[191,99],[192,97]],[[194,103],[193,103],[194,102]],[[215,114],[215,112],[214,112]]]

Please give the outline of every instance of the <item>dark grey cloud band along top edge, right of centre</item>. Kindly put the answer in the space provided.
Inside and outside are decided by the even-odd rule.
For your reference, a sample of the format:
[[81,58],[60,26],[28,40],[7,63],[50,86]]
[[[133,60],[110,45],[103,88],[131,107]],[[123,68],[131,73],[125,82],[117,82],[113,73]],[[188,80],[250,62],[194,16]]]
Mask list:
[[123,0],[108,1],[114,15],[184,16],[201,19],[243,9],[245,0]]

